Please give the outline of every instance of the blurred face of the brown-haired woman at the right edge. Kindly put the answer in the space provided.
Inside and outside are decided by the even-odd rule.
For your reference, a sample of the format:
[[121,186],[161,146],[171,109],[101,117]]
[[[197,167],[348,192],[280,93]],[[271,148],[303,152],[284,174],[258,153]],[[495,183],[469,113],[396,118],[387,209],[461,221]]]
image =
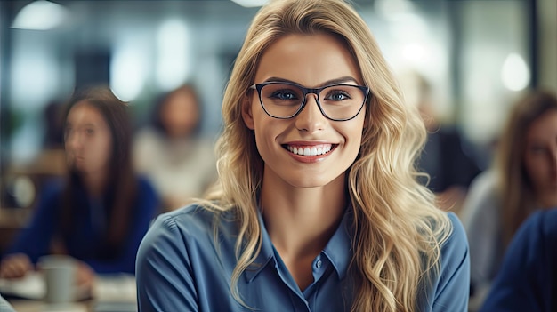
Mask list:
[[557,110],[546,112],[530,125],[524,165],[537,194],[557,194]]

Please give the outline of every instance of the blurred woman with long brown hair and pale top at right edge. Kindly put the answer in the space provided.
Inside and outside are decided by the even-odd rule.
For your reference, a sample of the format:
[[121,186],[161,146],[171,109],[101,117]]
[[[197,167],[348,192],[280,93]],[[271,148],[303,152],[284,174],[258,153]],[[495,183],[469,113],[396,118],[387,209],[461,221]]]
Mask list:
[[470,244],[471,308],[480,306],[517,228],[557,206],[557,99],[532,92],[511,113],[493,169],[472,183],[464,204]]

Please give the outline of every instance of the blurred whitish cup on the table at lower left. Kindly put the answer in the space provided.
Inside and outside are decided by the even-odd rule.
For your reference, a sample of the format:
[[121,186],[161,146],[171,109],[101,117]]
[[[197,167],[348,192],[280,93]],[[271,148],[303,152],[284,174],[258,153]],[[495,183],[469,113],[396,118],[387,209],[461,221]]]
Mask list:
[[44,275],[46,302],[67,303],[75,300],[76,260],[65,255],[48,255],[41,257],[38,265]]

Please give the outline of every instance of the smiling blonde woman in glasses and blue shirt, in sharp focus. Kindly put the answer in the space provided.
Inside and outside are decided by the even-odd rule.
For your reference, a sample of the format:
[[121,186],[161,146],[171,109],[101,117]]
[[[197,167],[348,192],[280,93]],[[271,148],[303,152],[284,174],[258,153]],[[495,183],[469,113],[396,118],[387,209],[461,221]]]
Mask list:
[[416,180],[424,123],[342,0],[270,1],[231,72],[206,201],[158,217],[140,311],[461,311],[464,228]]

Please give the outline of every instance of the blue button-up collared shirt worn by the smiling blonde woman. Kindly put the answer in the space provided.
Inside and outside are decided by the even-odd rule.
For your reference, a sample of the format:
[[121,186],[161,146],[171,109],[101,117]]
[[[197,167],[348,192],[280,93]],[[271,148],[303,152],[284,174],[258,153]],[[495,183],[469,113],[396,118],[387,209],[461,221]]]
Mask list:
[[[259,218],[261,252],[238,279],[238,291],[249,308],[234,300],[230,291],[236,266],[236,221],[228,213],[216,217],[191,205],[161,215],[141,242],[136,263],[139,310],[349,311],[354,293],[347,275],[352,258],[350,210],[313,260],[314,282],[303,291],[273,247],[261,215]],[[449,218],[454,229],[442,247],[440,276],[424,290],[421,311],[467,310],[468,245],[456,216],[449,213]]]

